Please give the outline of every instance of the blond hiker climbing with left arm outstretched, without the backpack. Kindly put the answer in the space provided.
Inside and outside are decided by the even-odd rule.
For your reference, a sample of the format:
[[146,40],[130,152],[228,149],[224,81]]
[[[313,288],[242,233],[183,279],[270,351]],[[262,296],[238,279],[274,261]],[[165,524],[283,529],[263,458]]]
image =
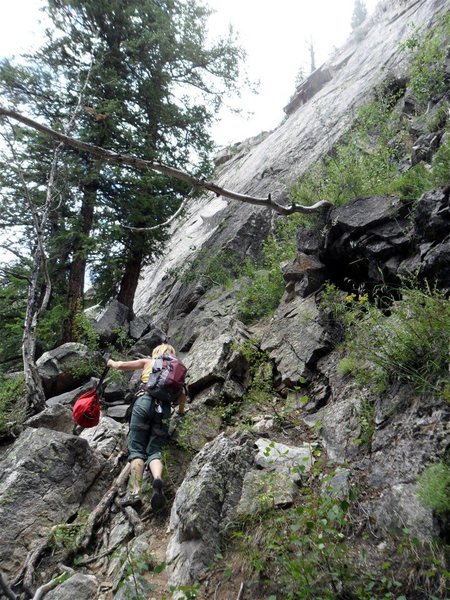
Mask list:
[[[153,494],[151,505],[153,510],[164,506],[163,480],[161,478],[163,464],[161,450],[169,433],[170,402],[161,401],[151,396],[151,391],[145,389],[152,374],[155,359],[163,355],[176,357],[175,349],[169,344],[157,346],[151,358],[130,361],[108,360],[107,365],[119,371],[137,371],[142,369],[141,388],[136,393],[128,433],[128,460],[131,463],[131,489],[122,499],[122,506],[139,507],[141,499],[139,492],[142,485],[144,468],[149,466],[153,475]],[[178,396],[178,414],[183,415],[186,404],[185,387]]]

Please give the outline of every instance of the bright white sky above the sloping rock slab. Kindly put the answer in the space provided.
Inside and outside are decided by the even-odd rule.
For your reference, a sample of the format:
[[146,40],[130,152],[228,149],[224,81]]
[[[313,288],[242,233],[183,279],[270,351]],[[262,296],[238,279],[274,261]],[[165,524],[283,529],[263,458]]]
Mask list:
[[[43,0],[0,0],[0,57],[19,55],[39,44]],[[354,0],[205,0],[216,12],[210,18],[210,35],[225,34],[231,24],[246,50],[248,76],[259,81],[258,94],[244,92],[227,99],[237,115],[224,108],[212,135],[225,146],[274,129],[282,121],[283,107],[295,90],[300,68],[309,72],[309,44],[320,66],[348,38]],[[368,13],[377,0],[366,0]]]

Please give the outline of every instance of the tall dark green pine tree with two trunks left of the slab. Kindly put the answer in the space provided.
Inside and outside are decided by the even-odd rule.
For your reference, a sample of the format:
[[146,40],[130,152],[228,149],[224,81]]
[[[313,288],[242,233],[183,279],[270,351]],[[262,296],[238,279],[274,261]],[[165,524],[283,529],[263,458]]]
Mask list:
[[[243,54],[233,32],[208,46],[210,11],[193,0],[48,0],[48,12],[53,28],[30,58],[28,87],[23,89],[18,73],[25,68],[10,68],[8,76],[3,69],[3,87],[15,104],[25,103],[55,126],[67,121],[84,86],[74,135],[206,175],[208,127],[225,93],[238,86]],[[122,226],[164,222],[189,190],[179,181],[138,176],[90,156],[65,152],[64,159],[67,195],[49,224],[57,235],[48,239],[61,249],[69,310],[65,338],[71,339],[87,265],[104,297],[118,293],[132,308],[141,268],[166,234]]]

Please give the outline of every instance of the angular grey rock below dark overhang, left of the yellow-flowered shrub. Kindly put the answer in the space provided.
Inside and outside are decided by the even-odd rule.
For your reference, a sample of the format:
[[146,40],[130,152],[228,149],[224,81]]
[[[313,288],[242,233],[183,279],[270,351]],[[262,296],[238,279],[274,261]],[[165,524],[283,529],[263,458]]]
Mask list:
[[314,298],[295,298],[280,305],[263,335],[261,349],[270,353],[287,387],[307,377],[317,360],[329,350]]

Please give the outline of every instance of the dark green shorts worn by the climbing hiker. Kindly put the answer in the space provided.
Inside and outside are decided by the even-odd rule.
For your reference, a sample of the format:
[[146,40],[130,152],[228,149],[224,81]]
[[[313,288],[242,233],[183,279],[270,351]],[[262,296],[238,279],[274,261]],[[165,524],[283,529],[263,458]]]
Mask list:
[[147,394],[136,398],[128,433],[128,460],[142,458],[146,463],[161,460],[161,450],[169,434],[170,405],[160,403],[162,412],[157,412],[157,402]]

